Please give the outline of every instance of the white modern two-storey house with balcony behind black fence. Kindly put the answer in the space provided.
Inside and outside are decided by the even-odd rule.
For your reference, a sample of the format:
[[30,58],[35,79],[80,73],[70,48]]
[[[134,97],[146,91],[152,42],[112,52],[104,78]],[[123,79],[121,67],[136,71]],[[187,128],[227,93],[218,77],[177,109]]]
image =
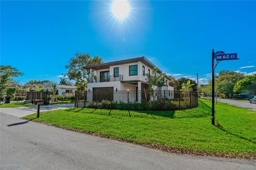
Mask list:
[[[84,69],[90,70],[88,91],[138,91],[135,98],[137,101],[141,101],[142,91],[148,90],[146,74],[152,73],[152,69],[154,69],[154,67],[156,66],[146,57],[124,59],[86,66]],[[158,67],[156,68],[158,70],[158,74],[162,74],[162,71],[158,69]],[[166,86],[160,88],[154,87],[154,90],[174,90],[173,87],[169,86],[169,80],[170,78],[167,78]],[[170,92],[167,93],[169,94],[168,96],[170,96]],[[89,98],[90,97],[88,96],[89,101],[92,100]],[[126,100],[126,98],[127,97],[122,100]],[[118,101],[121,99],[114,100]]]

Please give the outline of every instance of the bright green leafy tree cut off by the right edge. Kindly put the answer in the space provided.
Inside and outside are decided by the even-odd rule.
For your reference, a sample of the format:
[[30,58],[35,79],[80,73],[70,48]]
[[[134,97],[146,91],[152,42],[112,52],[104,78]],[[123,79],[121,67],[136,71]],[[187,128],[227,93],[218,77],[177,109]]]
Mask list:
[[233,91],[235,93],[249,92],[251,95],[256,95],[256,74],[247,75],[242,80],[239,80]]

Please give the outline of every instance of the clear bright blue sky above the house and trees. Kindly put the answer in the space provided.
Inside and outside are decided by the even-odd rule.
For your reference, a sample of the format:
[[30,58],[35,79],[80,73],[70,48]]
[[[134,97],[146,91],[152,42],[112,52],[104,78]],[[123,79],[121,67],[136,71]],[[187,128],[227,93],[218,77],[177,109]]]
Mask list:
[[216,71],[256,71],[256,2],[130,1],[119,22],[112,1],[1,1],[1,65],[31,79],[59,82],[77,52],[104,62],[145,56],[164,73],[201,83],[210,78],[212,48],[238,53]]

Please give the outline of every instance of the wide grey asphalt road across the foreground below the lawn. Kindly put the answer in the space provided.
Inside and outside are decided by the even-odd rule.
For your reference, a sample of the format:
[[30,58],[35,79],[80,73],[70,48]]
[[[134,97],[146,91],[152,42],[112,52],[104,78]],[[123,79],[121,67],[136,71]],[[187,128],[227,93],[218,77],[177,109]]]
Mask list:
[[1,113],[1,169],[256,169],[255,160],[168,154]]

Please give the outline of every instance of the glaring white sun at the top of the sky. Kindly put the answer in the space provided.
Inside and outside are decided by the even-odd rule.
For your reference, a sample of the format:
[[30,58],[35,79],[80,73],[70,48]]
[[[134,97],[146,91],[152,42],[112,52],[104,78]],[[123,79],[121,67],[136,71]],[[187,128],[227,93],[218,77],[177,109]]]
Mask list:
[[112,13],[118,20],[124,20],[127,18],[130,12],[130,4],[127,0],[114,0],[112,2]]

